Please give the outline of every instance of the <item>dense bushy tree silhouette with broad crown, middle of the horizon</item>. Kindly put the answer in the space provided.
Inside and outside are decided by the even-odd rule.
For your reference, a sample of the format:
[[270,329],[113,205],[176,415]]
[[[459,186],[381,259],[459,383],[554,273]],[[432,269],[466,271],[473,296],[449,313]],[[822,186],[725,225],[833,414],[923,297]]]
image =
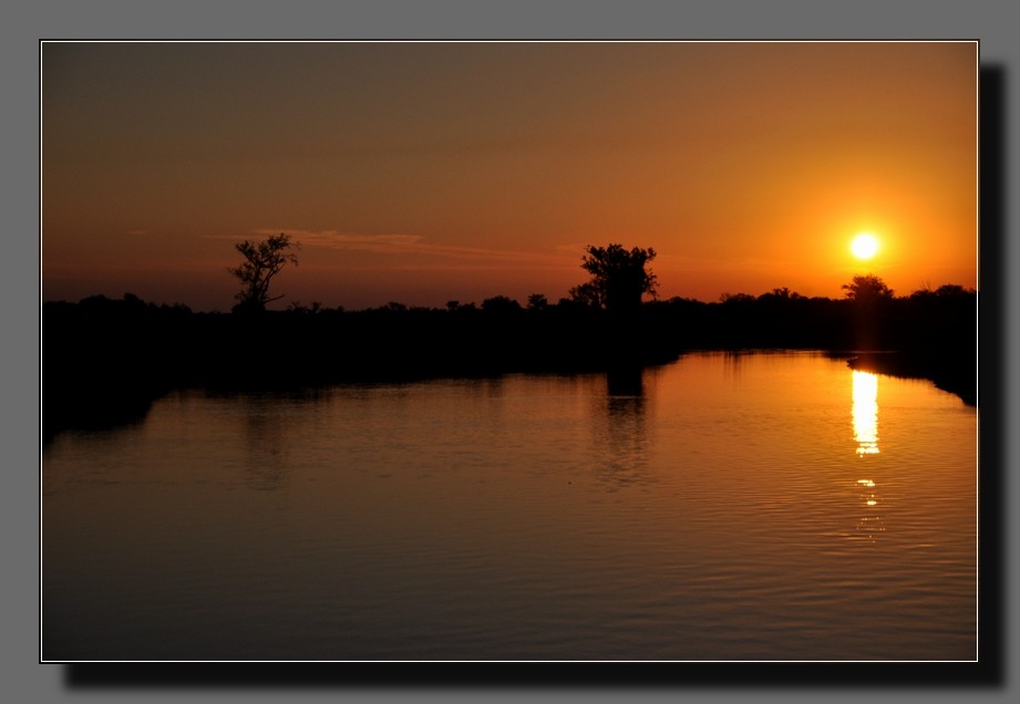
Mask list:
[[655,296],[656,275],[646,267],[656,258],[656,250],[635,247],[628,251],[621,245],[589,245],[586,251],[581,268],[591,275],[591,280],[570,289],[575,300],[620,312],[639,308],[645,293]]

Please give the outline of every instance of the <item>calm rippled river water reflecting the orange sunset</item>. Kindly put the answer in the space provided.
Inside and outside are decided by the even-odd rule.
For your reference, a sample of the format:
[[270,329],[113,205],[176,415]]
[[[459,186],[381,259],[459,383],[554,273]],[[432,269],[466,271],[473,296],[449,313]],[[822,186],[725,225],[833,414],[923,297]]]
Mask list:
[[42,455],[44,660],[973,660],[977,412],[811,353],[157,402]]

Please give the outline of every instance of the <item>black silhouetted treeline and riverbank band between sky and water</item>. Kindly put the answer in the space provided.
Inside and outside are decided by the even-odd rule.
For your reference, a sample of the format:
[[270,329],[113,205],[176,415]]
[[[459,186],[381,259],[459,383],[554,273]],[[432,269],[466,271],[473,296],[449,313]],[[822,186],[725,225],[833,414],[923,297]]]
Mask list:
[[712,303],[673,298],[626,315],[540,296],[526,307],[495,297],[481,306],[295,306],[250,315],[96,296],[42,307],[43,434],[141,417],[178,387],[595,372],[664,363],[698,349],[895,350],[898,356],[859,363],[895,359],[929,379],[948,370],[957,379],[942,385],[961,393],[961,384],[972,386],[976,317],[976,293],[955,286],[882,300],[806,298],[786,289]]

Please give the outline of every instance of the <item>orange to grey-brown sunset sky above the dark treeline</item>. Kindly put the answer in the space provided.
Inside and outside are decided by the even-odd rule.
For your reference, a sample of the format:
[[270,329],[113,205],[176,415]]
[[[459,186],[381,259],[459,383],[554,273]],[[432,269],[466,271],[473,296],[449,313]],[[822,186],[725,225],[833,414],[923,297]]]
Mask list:
[[[976,42],[43,42],[42,300],[444,307],[658,256],[659,298],[977,288]],[[856,258],[870,232],[878,250]]]

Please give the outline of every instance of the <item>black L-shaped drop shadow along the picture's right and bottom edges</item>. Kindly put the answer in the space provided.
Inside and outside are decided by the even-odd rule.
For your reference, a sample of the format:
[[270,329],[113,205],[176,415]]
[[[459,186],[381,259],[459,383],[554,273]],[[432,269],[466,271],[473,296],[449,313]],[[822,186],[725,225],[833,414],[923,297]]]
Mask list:
[[980,69],[980,615],[978,662],[845,663],[69,663],[73,691],[620,687],[751,690],[999,689],[1004,683],[1002,517],[1004,354],[1004,68]]

